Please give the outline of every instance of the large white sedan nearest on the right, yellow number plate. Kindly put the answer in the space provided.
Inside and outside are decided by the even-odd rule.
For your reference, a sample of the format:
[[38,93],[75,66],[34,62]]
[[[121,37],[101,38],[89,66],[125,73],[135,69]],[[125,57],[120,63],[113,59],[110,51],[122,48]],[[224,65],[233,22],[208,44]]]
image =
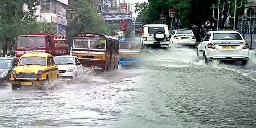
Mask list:
[[245,65],[249,60],[249,45],[236,31],[210,31],[197,46],[198,58],[209,60],[237,60]]

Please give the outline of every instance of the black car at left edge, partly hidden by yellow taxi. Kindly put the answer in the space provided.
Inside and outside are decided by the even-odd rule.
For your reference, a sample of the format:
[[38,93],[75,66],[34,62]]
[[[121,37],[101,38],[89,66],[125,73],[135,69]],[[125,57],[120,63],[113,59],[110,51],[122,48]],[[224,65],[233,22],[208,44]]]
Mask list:
[[11,77],[11,70],[18,65],[19,58],[0,57],[0,82],[8,81]]

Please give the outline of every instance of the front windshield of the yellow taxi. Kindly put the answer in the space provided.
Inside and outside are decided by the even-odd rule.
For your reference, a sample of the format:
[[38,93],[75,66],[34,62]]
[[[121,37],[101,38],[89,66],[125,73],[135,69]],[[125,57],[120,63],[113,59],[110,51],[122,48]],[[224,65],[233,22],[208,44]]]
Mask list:
[[44,57],[23,57],[20,59],[19,66],[24,65],[46,65],[46,59]]

